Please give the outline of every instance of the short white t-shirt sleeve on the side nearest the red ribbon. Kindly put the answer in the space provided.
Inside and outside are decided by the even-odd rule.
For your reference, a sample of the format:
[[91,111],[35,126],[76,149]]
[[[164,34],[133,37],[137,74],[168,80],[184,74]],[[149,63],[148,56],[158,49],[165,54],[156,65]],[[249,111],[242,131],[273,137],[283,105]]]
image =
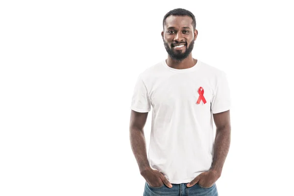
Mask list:
[[213,114],[225,112],[231,107],[230,88],[226,74],[221,71],[217,77],[217,85],[211,103],[211,110]]

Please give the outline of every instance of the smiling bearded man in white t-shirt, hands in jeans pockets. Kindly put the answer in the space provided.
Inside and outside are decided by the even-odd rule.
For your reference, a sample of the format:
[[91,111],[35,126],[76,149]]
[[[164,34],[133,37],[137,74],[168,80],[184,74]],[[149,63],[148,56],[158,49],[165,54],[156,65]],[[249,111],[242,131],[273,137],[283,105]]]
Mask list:
[[[163,29],[168,58],[139,74],[131,103],[130,142],[146,180],[144,196],[218,196],[215,182],[231,132],[226,74],[192,57],[198,31],[190,11],[171,10]],[[151,105],[147,159],[144,126]]]

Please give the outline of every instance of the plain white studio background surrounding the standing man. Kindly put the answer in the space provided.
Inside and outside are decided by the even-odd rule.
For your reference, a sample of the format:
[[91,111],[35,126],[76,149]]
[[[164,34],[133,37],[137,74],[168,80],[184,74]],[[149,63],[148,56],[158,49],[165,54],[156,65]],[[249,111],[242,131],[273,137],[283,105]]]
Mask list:
[[[0,195],[143,195],[131,97],[138,74],[167,58],[162,20],[178,7],[196,16],[193,57],[225,71],[231,88],[219,195],[291,195],[290,2],[1,1]],[[150,123],[151,112],[147,149]]]

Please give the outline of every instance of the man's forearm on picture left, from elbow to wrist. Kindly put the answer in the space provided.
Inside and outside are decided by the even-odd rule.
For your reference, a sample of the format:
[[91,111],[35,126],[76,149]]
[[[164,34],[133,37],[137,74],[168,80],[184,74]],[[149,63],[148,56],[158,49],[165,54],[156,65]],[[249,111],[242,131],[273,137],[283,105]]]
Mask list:
[[142,173],[150,167],[147,159],[144,131],[136,127],[131,127],[130,142],[133,154],[135,155],[139,166],[140,173]]

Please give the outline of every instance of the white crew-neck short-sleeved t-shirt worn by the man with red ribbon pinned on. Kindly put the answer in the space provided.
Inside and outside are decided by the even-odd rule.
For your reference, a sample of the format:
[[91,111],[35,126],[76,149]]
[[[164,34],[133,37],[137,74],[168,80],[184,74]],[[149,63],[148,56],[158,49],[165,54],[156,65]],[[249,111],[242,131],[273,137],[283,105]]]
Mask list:
[[151,105],[150,167],[173,184],[210,170],[212,114],[231,106],[226,74],[199,60],[188,69],[171,68],[163,60],[139,74],[130,108],[149,112]]

